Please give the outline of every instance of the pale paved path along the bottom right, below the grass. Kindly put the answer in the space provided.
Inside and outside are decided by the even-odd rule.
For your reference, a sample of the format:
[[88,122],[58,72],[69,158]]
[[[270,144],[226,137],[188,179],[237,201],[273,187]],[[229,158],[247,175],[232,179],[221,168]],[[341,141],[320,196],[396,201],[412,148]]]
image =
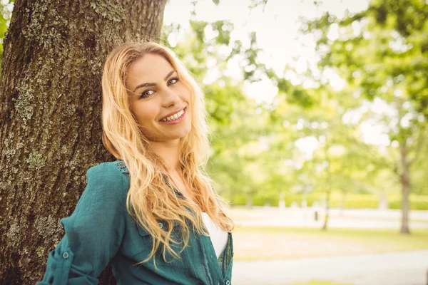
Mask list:
[[311,280],[353,285],[427,285],[428,250],[344,257],[234,261],[233,285]]

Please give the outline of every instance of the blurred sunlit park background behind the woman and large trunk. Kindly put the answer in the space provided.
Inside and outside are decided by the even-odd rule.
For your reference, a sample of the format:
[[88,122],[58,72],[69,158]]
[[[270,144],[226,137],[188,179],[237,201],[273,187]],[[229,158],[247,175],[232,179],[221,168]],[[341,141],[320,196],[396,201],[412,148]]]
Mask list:
[[426,0],[168,2],[163,42],[203,88],[237,225],[233,284],[427,284],[427,16]]

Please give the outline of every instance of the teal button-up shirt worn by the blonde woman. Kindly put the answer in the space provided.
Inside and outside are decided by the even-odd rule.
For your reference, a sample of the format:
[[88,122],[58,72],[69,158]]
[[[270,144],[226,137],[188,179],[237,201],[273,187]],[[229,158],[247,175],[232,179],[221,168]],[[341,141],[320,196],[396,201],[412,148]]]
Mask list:
[[[231,284],[232,234],[229,233],[219,259],[210,237],[199,235],[190,227],[189,244],[180,259],[165,262],[160,248],[156,252],[157,268],[153,258],[137,264],[148,257],[152,241],[151,235],[126,210],[130,180],[125,164],[116,160],[91,167],[86,181],[73,214],[61,219],[65,235],[49,254],[39,285],[98,284],[97,277],[108,264],[117,284]],[[175,193],[185,199],[178,190]],[[165,221],[158,222],[167,227]]]

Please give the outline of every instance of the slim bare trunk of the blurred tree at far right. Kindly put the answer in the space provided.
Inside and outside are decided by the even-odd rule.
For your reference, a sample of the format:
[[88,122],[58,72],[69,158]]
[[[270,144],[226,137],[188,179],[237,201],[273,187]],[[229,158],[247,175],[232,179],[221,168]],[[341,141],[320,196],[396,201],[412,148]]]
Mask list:
[[410,195],[410,175],[409,175],[409,162],[407,162],[407,147],[405,143],[400,143],[399,154],[402,164],[402,173],[400,175],[402,183],[402,224],[400,233],[410,234],[409,230],[409,195]]

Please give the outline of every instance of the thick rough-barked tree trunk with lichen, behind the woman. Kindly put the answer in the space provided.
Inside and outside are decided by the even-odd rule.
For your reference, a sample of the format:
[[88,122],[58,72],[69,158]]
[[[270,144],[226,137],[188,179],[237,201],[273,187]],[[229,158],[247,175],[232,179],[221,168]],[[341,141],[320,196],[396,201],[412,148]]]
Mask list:
[[[0,83],[0,276],[35,284],[101,142],[101,72],[115,43],[159,38],[166,0],[16,0]],[[115,284],[104,271],[101,284]]]

